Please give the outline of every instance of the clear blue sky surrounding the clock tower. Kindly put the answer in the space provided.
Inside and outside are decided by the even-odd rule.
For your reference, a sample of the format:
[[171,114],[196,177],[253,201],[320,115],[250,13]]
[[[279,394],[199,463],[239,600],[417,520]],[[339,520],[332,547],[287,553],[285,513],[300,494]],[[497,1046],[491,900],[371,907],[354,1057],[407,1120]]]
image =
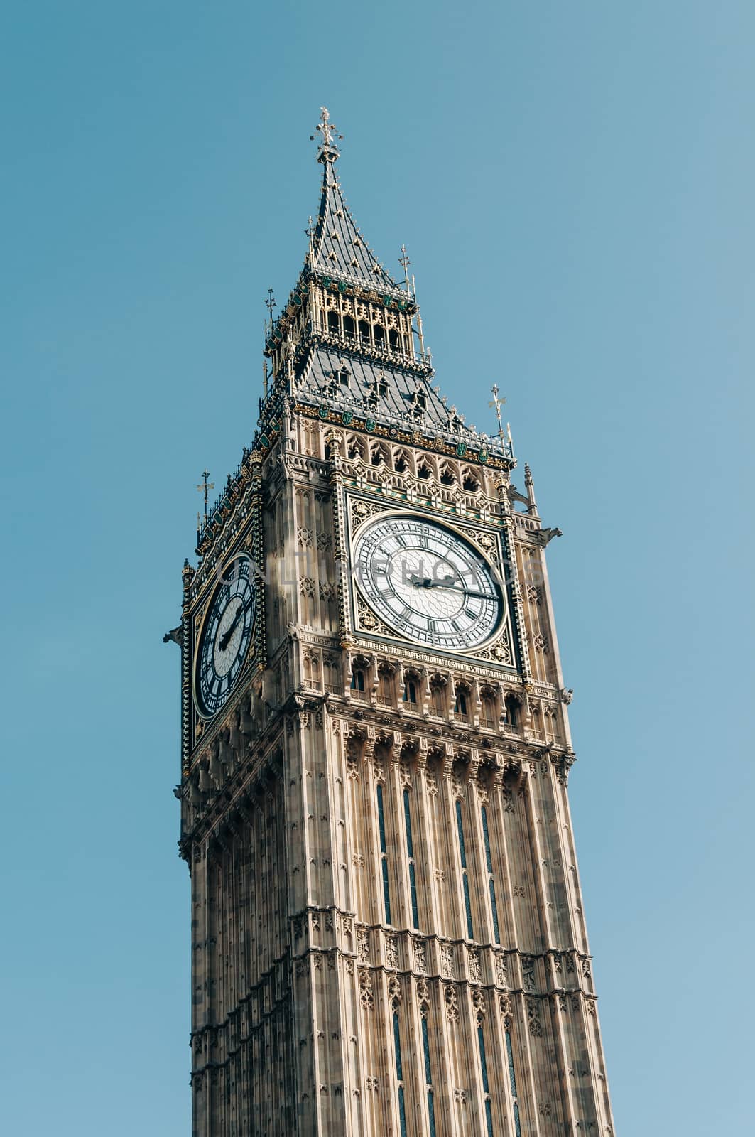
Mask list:
[[0,43],[3,1132],[190,1131],[161,637],[322,103],[438,382],[489,431],[500,385],[564,531],[617,1134],[752,1131],[752,3],[33,0]]

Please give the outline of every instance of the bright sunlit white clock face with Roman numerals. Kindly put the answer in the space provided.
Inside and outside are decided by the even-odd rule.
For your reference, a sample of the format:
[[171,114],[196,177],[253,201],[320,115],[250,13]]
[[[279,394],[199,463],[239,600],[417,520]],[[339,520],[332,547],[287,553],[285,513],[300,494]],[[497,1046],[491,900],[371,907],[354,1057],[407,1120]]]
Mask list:
[[458,652],[500,623],[492,567],[445,525],[410,515],[376,521],[357,539],[354,567],[370,607],[406,639]]

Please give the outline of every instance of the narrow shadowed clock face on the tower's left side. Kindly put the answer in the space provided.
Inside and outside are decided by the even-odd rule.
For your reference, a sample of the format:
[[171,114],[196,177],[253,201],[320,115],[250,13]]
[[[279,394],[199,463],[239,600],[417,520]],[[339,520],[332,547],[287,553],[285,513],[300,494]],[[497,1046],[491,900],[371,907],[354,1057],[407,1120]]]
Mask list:
[[251,562],[242,555],[223,570],[199,637],[194,697],[199,713],[206,719],[217,714],[239,678],[254,622]]

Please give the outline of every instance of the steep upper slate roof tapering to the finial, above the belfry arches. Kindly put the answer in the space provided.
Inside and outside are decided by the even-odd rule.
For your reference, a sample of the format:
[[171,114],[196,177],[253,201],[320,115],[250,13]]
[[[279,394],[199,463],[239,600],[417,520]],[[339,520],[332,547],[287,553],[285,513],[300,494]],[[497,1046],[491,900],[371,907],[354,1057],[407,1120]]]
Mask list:
[[313,251],[312,267],[317,273],[368,285],[378,292],[404,294],[404,289],[379,264],[357,229],[335,176],[334,161],[323,163],[323,192]]

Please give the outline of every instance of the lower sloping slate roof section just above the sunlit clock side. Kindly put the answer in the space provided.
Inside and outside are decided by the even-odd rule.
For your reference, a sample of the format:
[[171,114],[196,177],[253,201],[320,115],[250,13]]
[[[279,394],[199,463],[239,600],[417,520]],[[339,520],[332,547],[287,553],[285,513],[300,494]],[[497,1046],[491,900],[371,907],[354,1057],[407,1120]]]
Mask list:
[[[341,382],[339,373],[342,371],[348,373],[345,376],[348,382]],[[380,383],[384,384],[382,390]],[[335,410],[357,414],[372,410],[382,423],[442,434],[454,442],[479,442],[484,437],[466,426],[455,408],[446,406],[429,377],[417,374],[416,370],[323,343],[313,347],[304,359],[293,393],[304,402],[326,404]],[[495,443],[491,448],[497,449]]]

